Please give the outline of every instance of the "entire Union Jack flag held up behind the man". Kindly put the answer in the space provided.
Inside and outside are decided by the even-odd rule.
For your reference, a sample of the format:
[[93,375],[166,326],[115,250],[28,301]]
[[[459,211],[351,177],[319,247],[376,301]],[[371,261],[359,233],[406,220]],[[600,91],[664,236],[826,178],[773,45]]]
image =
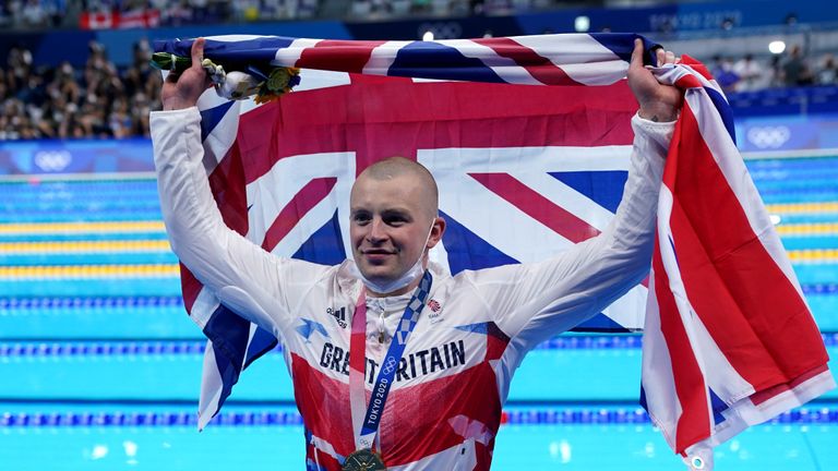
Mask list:
[[[204,94],[199,107],[211,186],[226,224],[254,243],[282,256],[338,264],[351,256],[344,221],[355,177],[378,159],[404,156],[423,164],[440,184],[448,228],[432,257],[452,273],[542,259],[599,233],[620,202],[637,108],[623,80],[635,37],[211,37],[205,56],[217,62],[241,70],[304,69],[295,93],[267,105]],[[156,49],[188,57],[191,43],[160,43]],[[642,400],[673,449],[711,466],[703,447],[810,400],[834,382],[788,258],[745,178],[723,95],[701,64],[656,74],[685,89],[686,105],[661,192],[655,275],[651,285],[637,286],[582,327],[639,329],[645,322]],[[679,170],[697,161],[716,180]],[[738,176],[734,182],[731,174]],[[709,196],[717,189],[721,196]],[[708,229],[690,232],[683,218],[673,222],[685,200],[690,218],[707,219],[703,229],[717,220],[708,210],[725,208],[726,216],[739,218],[738,237],[756,240],[753,252],[723,266],[725,276],[693,266],[707,258],[703,250],[716,263],[740,239]],[[743,273],[754,263],[776,269],[750,280]],[[204,426],[240,372],[276,339],[219,304],[185,268],[182,282],[185,305],[210,338],[200,403]],[[778,287],[778,294],[742,304],[755,283],[763,291]],[[647,297],[646,286],[655,295]],[[673,293],[689,302],[673,301]],[[763,314],[767,303],[777,309]],[[754,330],[749,322],[755,311],[765,323],[794,314],[793,340],[759,330],[749,337],[752,354],[782,363],[764,375],[750,374],[751,365],[735,352],[739,330],[731,333]],[[789,341],[811,348],[789,352]],[[771,407],[759,407],[766,403]]]

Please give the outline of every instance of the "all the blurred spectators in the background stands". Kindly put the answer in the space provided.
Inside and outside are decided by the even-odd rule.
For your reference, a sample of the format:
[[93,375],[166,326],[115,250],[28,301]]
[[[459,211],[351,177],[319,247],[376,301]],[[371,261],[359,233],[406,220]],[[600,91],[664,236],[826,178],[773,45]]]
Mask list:
[[[548,7],[553,0],[346,0],[350,16],[481,14]],[[5,0],[0,26],[49,26],[77,9],[94,12],[165,11],[165,22],[210,22],[313,15],[320,0]],[[323,3],[325,4],[325,2]],[[98,21],[98,20],[97,20]],[[160,20],[164,22],[164,20]],[[0,140],[148,135],[148,113],[160,108],[160,74],[151,68],[146,40],[134,45],[130,65],[116,67],[105,48],[92,43],[83,68],[70,62],[37,64],[24,47],[0,58]],[[709,59],[709,60],[708,60]],[[829,55],[809,57],[799,46],[770,57],[704,58],[727,93],[771,87],[838,85],[838,64]],[[79,63],[79,62],[76,62]]]

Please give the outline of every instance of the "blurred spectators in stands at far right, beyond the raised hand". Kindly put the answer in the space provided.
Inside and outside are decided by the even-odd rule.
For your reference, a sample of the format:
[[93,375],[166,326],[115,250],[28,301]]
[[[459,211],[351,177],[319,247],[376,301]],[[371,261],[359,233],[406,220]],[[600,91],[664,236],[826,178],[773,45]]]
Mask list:
[[739,60],[716,56],[710,72],[727,93],[771,87],[838,85],[838,63],[833,53],[807,57],[800,46],[768,60],[746,55]]

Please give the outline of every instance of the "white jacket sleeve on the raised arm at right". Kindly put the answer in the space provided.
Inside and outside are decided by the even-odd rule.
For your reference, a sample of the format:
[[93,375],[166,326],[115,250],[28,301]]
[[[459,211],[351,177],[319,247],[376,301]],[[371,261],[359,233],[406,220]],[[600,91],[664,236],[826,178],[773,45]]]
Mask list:
[[523,351],[592,317],[649,271],[658,193],[674,123],[635,116],[632,126],[628,178],[606,230],[544,262],[467,275],[494,322]]

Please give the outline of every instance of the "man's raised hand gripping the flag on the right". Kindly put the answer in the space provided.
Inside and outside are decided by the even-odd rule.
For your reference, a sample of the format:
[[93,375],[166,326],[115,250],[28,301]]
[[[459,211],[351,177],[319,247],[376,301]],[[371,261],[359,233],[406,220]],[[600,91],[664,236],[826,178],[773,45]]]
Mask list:
[[[658,49],[658,64],[674,63],[675,55],[671,51]],[[663,85],[655,78],[655,75],[643,65],[643,41],[634,40],[634,51],[628,65],[628,87],[641,106],[641,118],[650,121],[674,121],[678,119],[678,110],[681,108],[683,95],[681,90]]]

